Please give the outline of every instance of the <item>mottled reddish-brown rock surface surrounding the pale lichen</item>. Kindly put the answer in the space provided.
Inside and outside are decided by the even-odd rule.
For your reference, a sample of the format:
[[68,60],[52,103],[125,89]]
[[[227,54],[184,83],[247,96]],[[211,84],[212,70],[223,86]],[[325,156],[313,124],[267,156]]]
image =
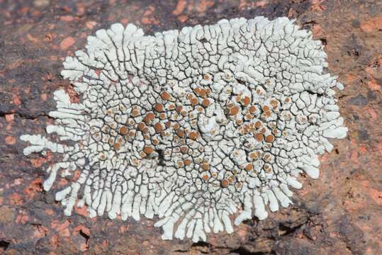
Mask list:
[[[0,247],[5,254],[379,254],[382,249],[382,16],[378,1],[0,1]],[[215,23],[221,18],[296,18],[326,45],[347,139],[320,157],[319,180],[294,205],[267,220],[248,220],[208,243],[162,241],[152,220],[62,216],[54,193],[43,192],[55,155],[26,158],[25,133],[43,133],[67,89],[62,61],[86,36],[112,23],[135,23],[147,34]],[[58,180],[57,189],[69,180]]]

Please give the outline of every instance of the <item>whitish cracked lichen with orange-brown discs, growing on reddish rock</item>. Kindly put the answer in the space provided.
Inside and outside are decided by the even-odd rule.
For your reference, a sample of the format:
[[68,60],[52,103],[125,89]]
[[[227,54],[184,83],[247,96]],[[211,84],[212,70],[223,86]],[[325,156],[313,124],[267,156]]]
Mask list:
[[67,57],[62,76],[81,103],[55,91],[54,125],[24,154],[62,154],[74,175],[56,200],[71,215],[159,220],[163,239],[206,240],[291,204],[300,174],[319,175],[328,138],[344,138],[325,52],[288,18],[223,20],[144,35],[116,23]]

